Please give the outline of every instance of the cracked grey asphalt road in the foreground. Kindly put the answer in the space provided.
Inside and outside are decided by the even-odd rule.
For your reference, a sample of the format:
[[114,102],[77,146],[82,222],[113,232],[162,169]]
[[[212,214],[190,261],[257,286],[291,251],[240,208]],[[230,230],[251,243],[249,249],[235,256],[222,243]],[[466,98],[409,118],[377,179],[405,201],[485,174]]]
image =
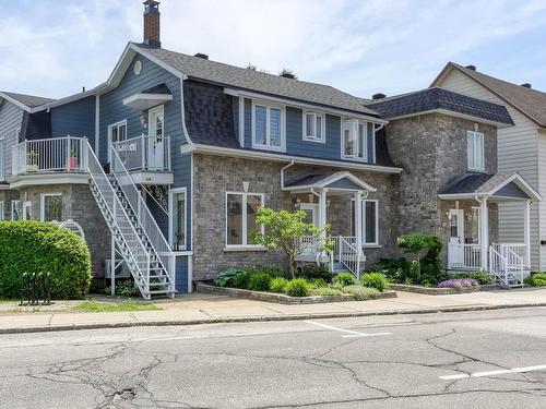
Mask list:
[[0,408],[546,408],[546,309],[0,336]]

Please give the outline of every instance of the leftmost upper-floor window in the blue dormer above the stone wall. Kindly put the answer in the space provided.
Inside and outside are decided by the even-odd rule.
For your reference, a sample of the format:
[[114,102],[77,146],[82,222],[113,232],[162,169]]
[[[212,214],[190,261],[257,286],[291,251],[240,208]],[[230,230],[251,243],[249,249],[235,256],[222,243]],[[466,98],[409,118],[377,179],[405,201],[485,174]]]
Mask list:
[[252,147],[285,151],[284,109],[254,101],[252,105]]

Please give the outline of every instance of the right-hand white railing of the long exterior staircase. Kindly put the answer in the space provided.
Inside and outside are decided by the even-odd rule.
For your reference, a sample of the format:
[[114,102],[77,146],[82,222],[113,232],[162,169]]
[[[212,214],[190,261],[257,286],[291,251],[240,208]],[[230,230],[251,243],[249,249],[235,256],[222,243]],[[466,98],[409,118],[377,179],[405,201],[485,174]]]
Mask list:
[[[112,148],[112,146],[111,146]],[[145,236],[152,245],[152,250],[159,257],[163,267],[170,276],[170,282],[175,282],[175,272],[169,269],[168,266],[174,266],[171,263],[174,258],[173,250],[168,244],[165,236],[163,234],[159,226],[152,216],[150,208],[142,199],[141,192],[136,189],[134,181],[123,166],[121,158],[119,157],[116,149],[112,148],[112,163],[111,163],[112,175],[119,187],[124,193],[129,205],[132,208],[133,214],[136,216],[139,224],[144,229]],[[174,290],[174,288],[173,288]]]

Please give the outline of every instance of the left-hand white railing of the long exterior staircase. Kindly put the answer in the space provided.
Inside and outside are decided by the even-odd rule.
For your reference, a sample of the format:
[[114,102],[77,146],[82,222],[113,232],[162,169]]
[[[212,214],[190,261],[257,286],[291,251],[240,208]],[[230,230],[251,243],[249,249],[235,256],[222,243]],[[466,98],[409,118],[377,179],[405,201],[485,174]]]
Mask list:
[[94,196],[142,296],[150,299],[151,254],[135,230],[93,149],[88,171]]

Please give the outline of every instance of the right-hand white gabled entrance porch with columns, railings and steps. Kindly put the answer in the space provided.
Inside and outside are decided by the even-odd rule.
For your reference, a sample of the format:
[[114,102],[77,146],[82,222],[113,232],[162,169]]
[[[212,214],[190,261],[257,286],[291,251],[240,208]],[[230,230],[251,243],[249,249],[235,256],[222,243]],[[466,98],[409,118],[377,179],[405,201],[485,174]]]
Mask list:
[[[541,195],[519,173],[470,173],[448,183],[438,196],[452,202],[446,210],[448,268],[479,269],[507,285],[522,284],[524,272],[531,267],[530,206],[539,202]],[[507,202],[521,205],[523,234],[521,241],[500,243],[489,225],[490,209]],[[471,233],[465,233],[465,225],[471,226]]]

